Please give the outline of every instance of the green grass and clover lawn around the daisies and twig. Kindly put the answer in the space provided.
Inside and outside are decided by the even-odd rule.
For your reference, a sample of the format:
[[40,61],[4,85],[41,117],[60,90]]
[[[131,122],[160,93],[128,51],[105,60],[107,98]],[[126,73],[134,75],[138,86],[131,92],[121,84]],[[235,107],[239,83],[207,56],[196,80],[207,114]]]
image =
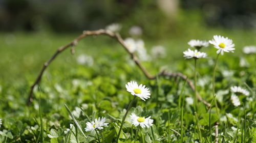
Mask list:
[[[193,97],[194,92],[187,84],[184,85],[182,79],[159,77],[148,80],[129,54],[115,40],[105,36],[81,40],[73,55],[69,49],[61,53],[42,77],[41,91],[38,86],[34,89],[32,105],[26,106],[29,87],[42,64],[58,47],[79,34],[2,33],[0,119],[3,125],[0,142],[102,142],[95,132],[84,130],[89,120],[98,117],[105,117],[109,123],[102,130],[104,141],[115,142],[125,109],[133,99],[125,88],[131,80],[146,85],[151,91],[151,98],[146,101],[136,98],[119,142],[213,142],[215,135],[211,133],[215,133],[216,122],[219,123],[219,142],[256,142],[256,56],[242,52],[244,46],[256,45],[255,34],[255,31],[202,27],[169,34],[162,39],[144,38],[151,58],[142,65],[152,75],[166,69],[181,72],[191,80],[194,79],[194,62],[185,60],[182,53],[189,48],[187,42],[190,39],[210,40],[214,35],[223,35],[233,40],[236,44],[234,53],[224,53],[218,61],[216,101],[220,115],[214,105],[209,120],[209,108],[202,102],[198,102],[196,118],[195,109],[187,100]],[[152,58],[151,48],[155,45],[165,47],[165,57]],[[211,77],[217,54],[212,45],[203,51],[207,52],[208,58],[199,61],[197,90],[210,103],[214,99]],[[79,64],[77,59],[82,54],[90,56],[93,62],[89,60]],[[240,85],[250,93],[248,97],[239,96],[241,105],[238,107],[230,100],[230,87],[234,85]],[[65,104],[88,139],[74,124]],[[134,127],[130,119],[132,112],[142,117],[151,116],[154,120],[151,128],[139,131],[137,139],[134,137],[138,127]]]

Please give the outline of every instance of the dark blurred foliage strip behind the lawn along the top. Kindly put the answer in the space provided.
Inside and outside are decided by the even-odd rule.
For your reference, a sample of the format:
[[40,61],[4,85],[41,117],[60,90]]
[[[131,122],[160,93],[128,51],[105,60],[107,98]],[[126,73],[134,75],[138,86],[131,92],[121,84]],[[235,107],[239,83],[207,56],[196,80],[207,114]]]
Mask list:
[[[193,24],[196,20],[189,14],[195,12],[202,25],[255,27],[255,1],[172,0],[165,4],[172,14],[164,11],[160,1],[6,0],[0,2],[0,30],[80,32],[118,22],[126,30],[139,25],[145,36],[152,37],[179,30],[183,22]],[[193,20],[180,21],[184,16]]]

